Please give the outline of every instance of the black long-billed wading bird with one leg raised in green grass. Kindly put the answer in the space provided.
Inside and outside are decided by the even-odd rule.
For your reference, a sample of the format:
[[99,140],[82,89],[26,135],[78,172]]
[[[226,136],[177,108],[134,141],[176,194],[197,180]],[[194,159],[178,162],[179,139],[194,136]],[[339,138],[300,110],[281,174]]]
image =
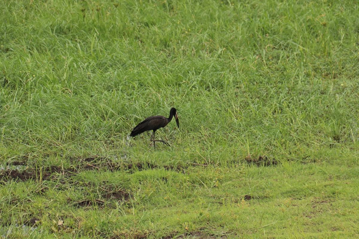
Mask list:
[[139,135],[145,131],[148,130],[153,130],[153,134],[151,135],[151,139],[150,141],[153,142],[153,146],[156,149],[156,141],[162,142],[163,144],[166,143],[168,146],[169,144],[163,140],[155,140],[155,132],[156,130],[158,130],[159,128],[162,128],[164,126],[166,126],[173,118],[176,119],[176,123],[178,128],[180,128],[180,124],[178,123],[178,115],[177,115],[177,110],[172,108],[171,111],[169,111],[169,117],[166,118],[162,115],[157,115],[157,116],[151,116],[148,117],[147,119],[145,119],[144,121],[142,121],[141,123],[139,123],[131,132],[130,136],[131,137],[135,137],[136,135]]

